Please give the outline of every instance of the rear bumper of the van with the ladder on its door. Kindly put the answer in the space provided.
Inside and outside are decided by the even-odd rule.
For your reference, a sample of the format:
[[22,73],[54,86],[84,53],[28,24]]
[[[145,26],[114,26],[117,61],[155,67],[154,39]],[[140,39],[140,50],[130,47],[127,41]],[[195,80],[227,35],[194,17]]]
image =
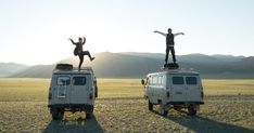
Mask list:
[[93,105],[88,104],[53,104],[48,105],[50,109],[59,108],[66,111],[92,111]]

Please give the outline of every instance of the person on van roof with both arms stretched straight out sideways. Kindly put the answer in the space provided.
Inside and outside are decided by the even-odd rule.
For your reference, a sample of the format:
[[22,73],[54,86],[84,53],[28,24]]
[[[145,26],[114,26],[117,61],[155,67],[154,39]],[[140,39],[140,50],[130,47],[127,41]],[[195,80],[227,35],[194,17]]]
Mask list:
[[155,34],[160,34],[160,35],[163,35],[166,37],[166,57],[165,57],[165,62],[167,64],[167,61],[168,61],[168,53],[169,51],[172,52],[172,57],[173,57],[173,62],[174,64],[176,63],[176,55],[175,55],[175,41],[174,41],[174,38],[178,35],[185,35],[183,32],[177,32],[177,34],[172,34],[172,29],[168,28],[167,29],[168,34],[164,34],[164,32],[161,32],[161,31],[157,31],[155,30],[154,32]]

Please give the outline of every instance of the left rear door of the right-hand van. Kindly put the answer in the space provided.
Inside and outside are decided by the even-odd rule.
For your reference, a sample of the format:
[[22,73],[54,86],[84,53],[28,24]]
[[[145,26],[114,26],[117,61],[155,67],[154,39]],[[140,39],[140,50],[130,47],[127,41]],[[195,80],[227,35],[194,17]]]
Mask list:
[[172,102],[186,102],[186,85],[182,76],[172,75],[168,79]]

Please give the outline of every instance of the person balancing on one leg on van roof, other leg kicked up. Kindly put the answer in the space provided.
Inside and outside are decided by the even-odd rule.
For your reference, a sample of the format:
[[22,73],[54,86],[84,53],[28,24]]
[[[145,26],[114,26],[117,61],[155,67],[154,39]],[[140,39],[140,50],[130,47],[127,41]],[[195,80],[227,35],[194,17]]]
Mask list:
[[74,42],[73,39],[68,39],[72,41],[72,43],[74,45],[76,45],[76,48],[74,49],[74,55],[79,57],[79,65],[78,65],[78,70],[80,70],[80,67],[82,65],[82,62],[84,62],[84,56],[85,55],[88,55],[90,61],[93,61],[96,57],[91,57],[90,55],[90,52],[89,51],[82,51],[82,45],[86,43],[86,38],[82,37],[82,38],[78,38],[78,42]]

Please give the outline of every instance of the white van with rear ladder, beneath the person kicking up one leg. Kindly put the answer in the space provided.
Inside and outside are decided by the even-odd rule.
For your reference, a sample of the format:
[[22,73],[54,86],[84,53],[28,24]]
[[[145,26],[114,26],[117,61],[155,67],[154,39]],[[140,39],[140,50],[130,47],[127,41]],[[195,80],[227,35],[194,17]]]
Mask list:
[[54,69],[48,104],[52,119],[62,119],[64,111],[86,111],[86,118],[90,119],[98,95],[97,90],[97,80],[91,68],[78,70],[64,64]]

